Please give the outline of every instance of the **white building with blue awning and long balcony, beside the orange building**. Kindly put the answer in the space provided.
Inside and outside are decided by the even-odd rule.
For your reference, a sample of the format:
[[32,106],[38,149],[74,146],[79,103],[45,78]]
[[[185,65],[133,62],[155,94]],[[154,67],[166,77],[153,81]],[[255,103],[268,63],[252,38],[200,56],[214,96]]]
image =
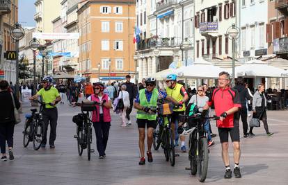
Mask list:
[[[138,64],[138,80],[168,69],[173,63],[174,66],[190,64],[193,61],[193,1],[150,0],[147,3],[139,0],[136,7],[149,13],[146,13],[146,19],[142,18],[146,21],[141,25],[144,14],[136,10],[137,25],[142,28],[142,39],[134,57]],[[184,56],[180,45],[185,38],[190,40],[191,47],[184,51]]]

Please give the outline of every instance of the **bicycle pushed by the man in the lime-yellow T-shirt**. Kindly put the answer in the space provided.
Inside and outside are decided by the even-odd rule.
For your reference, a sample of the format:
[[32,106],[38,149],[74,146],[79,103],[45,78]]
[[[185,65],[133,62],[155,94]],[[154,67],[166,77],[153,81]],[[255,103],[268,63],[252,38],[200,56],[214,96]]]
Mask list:
[[34,150],[39,150],[43,141],[43,125],[42,119],[43,106],[50,105],[50,103],[43,103],[39,100],[34,100],[36,103],[40,103],[39,112],[37,109],[30,109],[31,114],[26,114],[26,121],[24,124],[23,133],[23,146],[26,148],[29,142],[33,141]]

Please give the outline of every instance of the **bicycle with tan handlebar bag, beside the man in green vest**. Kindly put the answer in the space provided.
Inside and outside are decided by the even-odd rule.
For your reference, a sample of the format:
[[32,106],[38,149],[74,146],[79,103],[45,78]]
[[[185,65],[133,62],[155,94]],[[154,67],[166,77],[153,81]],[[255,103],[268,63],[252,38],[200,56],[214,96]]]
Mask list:
[[[166,105],[166,110],[165,109]],[[169,107],[169,108],[168,108]],[[152,110],[152,112],[157,113],[157,127],[159,129],[154,130],[153,137],[153,147],[155,150],[159,149],[159,146],[163,148],[164,156],[166,161],[170,161],[171,166],[175,166],[175,144],[173,139],[173,131],[171,128],[171,118],[170,114],[173,113],[173,104],[162,104],[157,103],[157,109]],[[169,111],[167,112],[167,109]]]

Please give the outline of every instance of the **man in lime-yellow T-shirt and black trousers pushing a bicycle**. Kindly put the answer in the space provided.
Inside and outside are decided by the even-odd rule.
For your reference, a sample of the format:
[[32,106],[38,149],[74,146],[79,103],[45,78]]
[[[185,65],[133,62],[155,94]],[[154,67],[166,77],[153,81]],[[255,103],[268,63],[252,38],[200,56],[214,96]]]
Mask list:
[[49,103],[49,105],[45,105],[43,109],[43,141],[41,144],[41,148],[46,147],[47,143],[47,129],[48,124],[50,123],[50,137],[49,137],[49,145],[50,148],[55,148],[55,139],[56,139],[56,127],[57,127],[57,119],[58,119],[58,111],[56,104],[61,101],[60,94],[58,90],[51,85],[53,78],[45,77],[42,80],[43,87],[38,91],[37,94],[30,97],[29,100],[38,99],[38,97],[42,97],[42,101],[44,103]]

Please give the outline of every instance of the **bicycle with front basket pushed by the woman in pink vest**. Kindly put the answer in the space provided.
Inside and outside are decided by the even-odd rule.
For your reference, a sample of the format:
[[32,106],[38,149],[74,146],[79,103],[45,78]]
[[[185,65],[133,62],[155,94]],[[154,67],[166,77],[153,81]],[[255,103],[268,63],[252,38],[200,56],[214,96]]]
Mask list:
[[77,116],[79,116],[78,121],[76,120],[77,118],[73,118],[74,123],[78,122],[76,128],[77,135],[74,135],[74,138],[77,139],[77,149],[79,156],[82,155],[83,149],[87,148],[88,161],[90,161],[91,153],[93,153],[95,150],[91,149],[93,122],[90,119],[89,112],[93,112],[95,110],[95,105],[102,105],[97,102],[90,101],[82,101],[81,104],[77,103],[77,105],[81,106],[81,113],[77,114]]

